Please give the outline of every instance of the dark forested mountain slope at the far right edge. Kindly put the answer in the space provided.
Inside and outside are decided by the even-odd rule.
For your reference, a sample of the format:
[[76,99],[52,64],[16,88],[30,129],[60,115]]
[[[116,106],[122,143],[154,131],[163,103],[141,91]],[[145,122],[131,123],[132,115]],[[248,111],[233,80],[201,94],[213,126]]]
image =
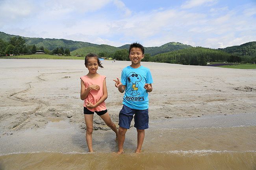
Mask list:
[[247,42],[240,46],[219,48],[219,50],[226,51],[232,55],[237,56],[256,56],[256,41]]

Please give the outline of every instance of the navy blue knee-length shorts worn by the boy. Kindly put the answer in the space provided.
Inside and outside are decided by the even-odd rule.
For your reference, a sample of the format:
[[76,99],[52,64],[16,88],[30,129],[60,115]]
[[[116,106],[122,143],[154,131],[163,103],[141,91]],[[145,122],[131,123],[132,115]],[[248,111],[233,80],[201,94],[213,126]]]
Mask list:
[[[134,115],[135,114],[135,115]],[[123,104],[119,113],[119,126],[130,129],[132,118],[134,117],[134,127],[140,130],[148,128],[148,109],[137,110],[132,109]]]

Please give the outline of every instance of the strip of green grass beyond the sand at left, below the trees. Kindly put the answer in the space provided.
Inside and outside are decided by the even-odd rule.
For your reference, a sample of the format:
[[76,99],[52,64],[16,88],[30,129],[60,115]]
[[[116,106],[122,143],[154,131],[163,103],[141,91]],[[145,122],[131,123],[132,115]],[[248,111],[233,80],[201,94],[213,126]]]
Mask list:
[[20,58],[20,59],[75,59],[83,60],[83,57],[75,56],[58,56],[58,55],[48,55],[48,54],[33,54],[33,55],[16,55],[16,56],[7,56],[0,58]]

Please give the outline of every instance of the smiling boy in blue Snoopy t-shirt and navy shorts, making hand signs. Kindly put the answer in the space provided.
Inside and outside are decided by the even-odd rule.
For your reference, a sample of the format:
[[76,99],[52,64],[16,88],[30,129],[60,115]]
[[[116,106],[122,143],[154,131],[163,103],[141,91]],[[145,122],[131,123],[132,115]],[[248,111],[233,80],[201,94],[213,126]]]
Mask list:
[[134,127],[137,128],[137,149],[141,152],[145,129],[148,128],[148,92],[152,91],[152,76],[150,70],[141,66],[144,58],[144,48],[139,43],[130,45],[129,58],[132,62],[122,70],[121,82],[117,78],[115,86],[124,93],[123,107],[119,113],[118,154],[123,152],[125,133],[130,129],[134,115]]

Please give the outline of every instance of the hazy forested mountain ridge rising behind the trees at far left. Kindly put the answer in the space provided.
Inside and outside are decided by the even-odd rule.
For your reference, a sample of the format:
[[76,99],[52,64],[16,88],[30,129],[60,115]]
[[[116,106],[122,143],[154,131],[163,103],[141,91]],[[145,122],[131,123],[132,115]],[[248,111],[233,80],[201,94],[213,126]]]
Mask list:
[[[21,37],[17,35],[9,35],[3,32],[0,32],[0,39],[9,41],[12,37]],[[89,42],[81,42],[81,41],[72,41],[65,39],[55,39],[55,38],[29,38],[22,37],[26,45],[35,45],[36,47],[43,46],[45,49],[53,50],[55,48],[68,48],[70,51],[73,51],[78,48],[87,47],[87,46],[98,46],[97,44],[92,44]]]

